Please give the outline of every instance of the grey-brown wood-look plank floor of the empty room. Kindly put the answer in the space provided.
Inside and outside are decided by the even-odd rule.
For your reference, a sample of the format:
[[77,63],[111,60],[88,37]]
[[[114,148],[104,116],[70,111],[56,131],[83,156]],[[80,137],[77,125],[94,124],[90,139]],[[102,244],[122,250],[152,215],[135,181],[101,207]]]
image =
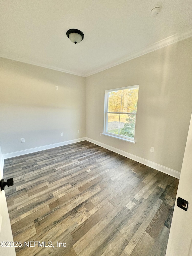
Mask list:
[[6,159],[10,177],[17,256],[165,255],[178,179],[87,141]]

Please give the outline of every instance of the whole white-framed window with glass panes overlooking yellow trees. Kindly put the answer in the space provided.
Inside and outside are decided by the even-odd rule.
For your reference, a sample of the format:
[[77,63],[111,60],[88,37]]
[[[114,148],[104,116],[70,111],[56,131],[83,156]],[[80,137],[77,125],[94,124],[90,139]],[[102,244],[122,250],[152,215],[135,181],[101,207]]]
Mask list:
[[134,143],[139,86],[105,91],[104,135]]

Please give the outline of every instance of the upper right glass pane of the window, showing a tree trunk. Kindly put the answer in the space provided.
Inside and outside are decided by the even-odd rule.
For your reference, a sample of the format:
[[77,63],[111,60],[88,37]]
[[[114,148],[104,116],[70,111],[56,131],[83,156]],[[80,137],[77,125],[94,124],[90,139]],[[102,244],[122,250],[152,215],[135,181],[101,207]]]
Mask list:
[[121,112],[136,113],[139,88],[122,90]]

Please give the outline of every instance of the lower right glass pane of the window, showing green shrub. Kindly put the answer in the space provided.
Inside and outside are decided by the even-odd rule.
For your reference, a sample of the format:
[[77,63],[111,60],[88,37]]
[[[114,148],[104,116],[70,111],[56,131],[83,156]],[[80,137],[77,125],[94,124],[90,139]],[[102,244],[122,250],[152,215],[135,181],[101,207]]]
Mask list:
[[136,115],[120,114],[119,134],[134,138]]

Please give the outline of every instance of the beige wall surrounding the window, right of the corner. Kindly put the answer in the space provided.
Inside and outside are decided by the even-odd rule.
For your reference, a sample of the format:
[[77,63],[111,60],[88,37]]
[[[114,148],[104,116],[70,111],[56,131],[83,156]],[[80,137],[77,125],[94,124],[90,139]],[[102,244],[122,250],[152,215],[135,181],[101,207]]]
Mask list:
[[[100,137],[105,90],[137,84],[136,143]],[[192,38],[86,77],[86,136],[173,170],[181,171],[191,111]]]

